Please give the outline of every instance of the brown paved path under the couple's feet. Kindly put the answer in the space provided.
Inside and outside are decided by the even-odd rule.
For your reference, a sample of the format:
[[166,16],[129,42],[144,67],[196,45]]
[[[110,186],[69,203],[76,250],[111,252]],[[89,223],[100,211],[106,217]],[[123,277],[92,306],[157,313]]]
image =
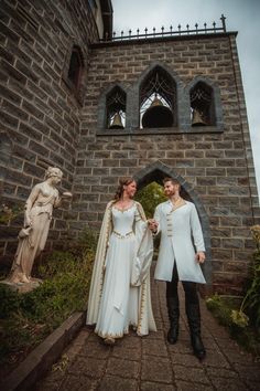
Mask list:
[[169,328],[165,284],[153,283],[152,303],[158,332],[138,337],[131,331],[113,347],[102,344],[91,328],[83,328],[63,359],[35,391],[210,391],[260,390],[260,362],[240,351],[202,300],[203,340],[207,357],[193,355],[181,293],[181,332],[176,345],[166,340]]

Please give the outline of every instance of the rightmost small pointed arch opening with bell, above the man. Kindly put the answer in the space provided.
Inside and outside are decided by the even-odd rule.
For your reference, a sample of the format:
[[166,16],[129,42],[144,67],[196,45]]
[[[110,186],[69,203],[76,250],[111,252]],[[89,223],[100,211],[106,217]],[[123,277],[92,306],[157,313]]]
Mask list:
[[214,92],[198,82],[189,92],[192,126],[212,126],[216,123]]

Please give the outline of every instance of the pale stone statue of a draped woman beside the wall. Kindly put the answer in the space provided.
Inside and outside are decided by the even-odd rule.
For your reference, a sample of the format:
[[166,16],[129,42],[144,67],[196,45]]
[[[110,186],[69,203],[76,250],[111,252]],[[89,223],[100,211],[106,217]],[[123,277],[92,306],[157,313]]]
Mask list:
[[58,168],[48,167],[45,181],[35,184],[26,200],[24,225],[19,232],[18,250],[8,278],[11,284],[31,282],[33,262],[44,250],[47,240],[53,208],[58,208],[63,198],[72,197],[69,192],[59,196],[56,186],[62,177],[63,172]]

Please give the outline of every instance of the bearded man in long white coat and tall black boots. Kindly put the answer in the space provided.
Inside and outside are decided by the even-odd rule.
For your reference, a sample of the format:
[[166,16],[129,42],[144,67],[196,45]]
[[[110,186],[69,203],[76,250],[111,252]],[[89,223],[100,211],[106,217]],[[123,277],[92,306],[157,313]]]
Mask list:
[[[150,221],[154,234],[161,232],[155,279],[166,282],[166,303],[170,319],[167,341],[175,344],[178,336],[177,283],[185,292],[185,309],[194,355],[204,359],[206,351],[201,337],[201,311],[196,283],[206,283],[199,264],[205,261],[205,246],[197,211],[192,202],[180,196],[180,183],[172,178],[163,180],[167,201],[160,203]],[[196,249],[196,253],[194,251]]]

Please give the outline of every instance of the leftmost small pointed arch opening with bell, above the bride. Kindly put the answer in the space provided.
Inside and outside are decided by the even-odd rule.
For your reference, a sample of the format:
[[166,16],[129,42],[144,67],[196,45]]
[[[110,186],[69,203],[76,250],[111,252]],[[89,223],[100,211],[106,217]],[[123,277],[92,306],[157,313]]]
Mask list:
[[123,129],[126,127],[127,95],[116,86],[107,95],[107,128]]

